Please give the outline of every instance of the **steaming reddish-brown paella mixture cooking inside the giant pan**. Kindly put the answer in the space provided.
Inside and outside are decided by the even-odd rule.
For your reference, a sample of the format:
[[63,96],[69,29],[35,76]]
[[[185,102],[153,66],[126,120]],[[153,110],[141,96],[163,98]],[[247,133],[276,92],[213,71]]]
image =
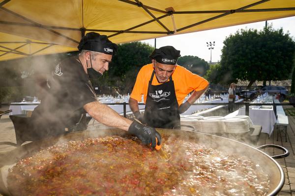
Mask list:
[[[88,138],[48,147],[17,162],[12,195],[266,195],[257,163],[175,136],[160,151],[133,137]],[[167,156],[163,156],[163,153]]]

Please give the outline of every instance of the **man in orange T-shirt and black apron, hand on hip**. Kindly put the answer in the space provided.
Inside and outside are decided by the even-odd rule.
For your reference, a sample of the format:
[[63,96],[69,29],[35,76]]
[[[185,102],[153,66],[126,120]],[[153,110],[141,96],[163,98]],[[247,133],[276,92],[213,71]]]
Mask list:
[[[155,49],[149,56],[152,63],[139,71],[129,105],[142,123],[156,128],[176,128],[180,125],[179,114],[207,90],[206,79],[177,65],[179,56],[180,51],[172,46]],[[182,103],[192,91],[190,98]],[[146,104],[144,116],[138,107],[142,95]]]

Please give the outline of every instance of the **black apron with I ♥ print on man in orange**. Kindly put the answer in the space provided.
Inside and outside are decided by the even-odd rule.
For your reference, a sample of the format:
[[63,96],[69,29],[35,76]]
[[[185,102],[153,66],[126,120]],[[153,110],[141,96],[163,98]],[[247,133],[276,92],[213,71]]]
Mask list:
[[155,86],[151,85],[154,74],[155,71],[148,82],[145,122],[155,128],[177,128],[180,116],[172,77],[168,82]]

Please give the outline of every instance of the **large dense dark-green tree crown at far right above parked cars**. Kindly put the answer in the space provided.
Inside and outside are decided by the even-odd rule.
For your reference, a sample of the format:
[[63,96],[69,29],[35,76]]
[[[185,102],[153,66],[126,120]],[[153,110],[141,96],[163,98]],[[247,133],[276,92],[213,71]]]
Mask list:
[[295,42],[283,29],[241,29],[225,39],[220,75],[227,83],[288,79],[294,65]]

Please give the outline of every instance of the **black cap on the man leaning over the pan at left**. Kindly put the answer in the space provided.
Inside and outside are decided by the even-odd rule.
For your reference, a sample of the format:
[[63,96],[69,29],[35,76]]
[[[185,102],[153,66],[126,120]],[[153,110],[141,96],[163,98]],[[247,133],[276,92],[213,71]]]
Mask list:
[[85,49],[112,55],[117,52],[118,46],[111,42],[106,35],[89,32],[81,39],[78,49],[79,51]]

